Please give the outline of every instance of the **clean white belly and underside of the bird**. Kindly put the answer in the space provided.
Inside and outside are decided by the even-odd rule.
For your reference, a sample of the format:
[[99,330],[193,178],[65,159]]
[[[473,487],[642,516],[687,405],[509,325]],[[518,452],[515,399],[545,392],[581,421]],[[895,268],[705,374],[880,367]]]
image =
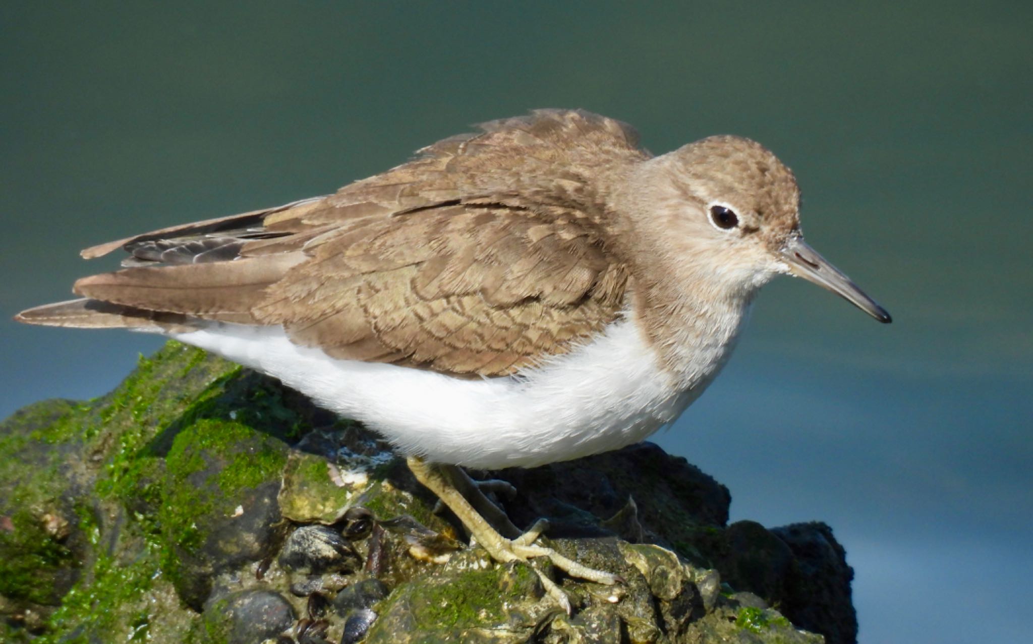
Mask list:
[[403,454],[493,470],[641,441],[677,418],[719,367],[677,386],[626,320],[518,377],[482,380],[334,359],[292,344],[280,327],[213,323],[173,336],[280,379],[382,433]]

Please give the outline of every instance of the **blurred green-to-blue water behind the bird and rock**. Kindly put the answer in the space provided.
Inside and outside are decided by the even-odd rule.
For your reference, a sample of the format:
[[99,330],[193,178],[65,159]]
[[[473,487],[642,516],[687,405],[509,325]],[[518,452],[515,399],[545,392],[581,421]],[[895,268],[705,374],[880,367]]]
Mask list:
[[[659,441],[735,518],[823,519],[868,643],[1022,641],[1033,572],[1033,5],[4,3],[0,303],[81,247],[322,194],[531,107],[795,170],[812,245],[893,314],[768,287]],[[0,322],[0,415],[109,389],[157,341]]]

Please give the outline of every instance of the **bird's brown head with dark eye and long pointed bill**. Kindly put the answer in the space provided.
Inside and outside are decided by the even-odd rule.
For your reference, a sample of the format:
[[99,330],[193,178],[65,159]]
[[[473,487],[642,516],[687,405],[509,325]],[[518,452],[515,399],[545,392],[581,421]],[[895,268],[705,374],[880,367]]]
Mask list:
[[[711,136],[643,162],[623,192],[635,234],[703,291],[751,295],[779,273],[845,297],[880,322],[886,311],[804,242],[796,180],[760,143]],[[651,220],[646,225],[644,220]],[[657,220],[662,225],[657,225]],[[675,276],[682,273],[678,278]]]

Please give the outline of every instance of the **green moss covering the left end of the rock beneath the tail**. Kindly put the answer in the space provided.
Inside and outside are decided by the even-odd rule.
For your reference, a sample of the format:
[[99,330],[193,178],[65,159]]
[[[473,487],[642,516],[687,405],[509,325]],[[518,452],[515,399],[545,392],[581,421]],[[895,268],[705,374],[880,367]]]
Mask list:
[[[279,479],[281,439],[309,429],[312,409],[276,381],[170,342],[101,398],[21,410],[0,424],[0,517],[11,527],[0,529],[0,593],[62,602],[40,642],[147,640],[148,602],[164,592],[163,614],[181,610],[169,576],[179,555],[205,543],[208,519],[230,515],[242,492]],[[114,550],[113,535],[72,501],[83,495],[105,513],[128,511]],[[58,510],[76,546],[46,533],[40,517]],[[49,578],[61,573],[64,592],[79,566],[62,600]],[[175,641],[202,634],[173,621],[188,624],[162,626],[182,636]]]

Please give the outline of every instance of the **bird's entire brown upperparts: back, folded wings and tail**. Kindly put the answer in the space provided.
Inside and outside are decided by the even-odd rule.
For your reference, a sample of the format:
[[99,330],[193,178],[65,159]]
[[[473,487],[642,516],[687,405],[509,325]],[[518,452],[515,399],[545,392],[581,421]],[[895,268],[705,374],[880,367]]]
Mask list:
[[[282,324],[294,342],[342,358],[513,373],[619,315],[627,277],[603,249],[591,175],[647,153],[629,127],[582,111],[481,128],[328,197],[87,249],[123,248],[130,267],[74,290],[122,308],[94,325],[170,319],[155,312]],[[95,309],[20,319],[87,325]]]

